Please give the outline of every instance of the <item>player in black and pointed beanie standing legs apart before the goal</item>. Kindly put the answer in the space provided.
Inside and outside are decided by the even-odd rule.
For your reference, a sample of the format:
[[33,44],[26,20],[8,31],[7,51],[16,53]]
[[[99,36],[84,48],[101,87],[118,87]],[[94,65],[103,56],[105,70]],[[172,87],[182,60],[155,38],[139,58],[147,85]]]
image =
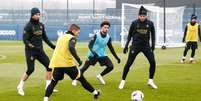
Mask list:
[[[127,53],[129,42],[132,39],[132,44],[130,46],[130,51],[128,55],[128,60],[124,66],[122,80],[119,84],[119,89],[123,89],[125,85],[125,79],[129,72],[129,69],[133,62],[135,61],[136,56],[142,52],[150,63],[149,68],[149,79],[148,85],[153,89],[157,89],[157,86],[153,82],[156,61],[154,58],[154,49],[155,49],[155,28],[152,21],[147,19],[147,10],[141,6],[138,14],[138,19],[133,21],[129,33],[126,45],[123,52]],[[151,33],[151,34],[150,34]],[[151,43],[150,45],[150,37]]]

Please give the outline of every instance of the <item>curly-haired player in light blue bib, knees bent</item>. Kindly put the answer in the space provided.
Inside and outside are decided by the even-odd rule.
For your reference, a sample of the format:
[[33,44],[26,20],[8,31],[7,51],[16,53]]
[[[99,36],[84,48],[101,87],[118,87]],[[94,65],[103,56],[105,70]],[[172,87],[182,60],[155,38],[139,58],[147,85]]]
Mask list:
[[102,77],[111,72],[114,68],[112,61],[105,54],[106,46],[109,47],[109,50],[118,63],[120,63],[121,60],[116,55],[116,52],[114,51],[114,48],[112,46],[112,39],[108,34],[110,23],[108,21],[103,21],[100,27],[100,31],[97,32],[94,35],[93,39],[89,42],[88,47],[90,51],[88,53],[88,59],[85,61],[84,66],[80,70],[82,73],[84,73],[90,65],[95,65],[97,62],[99,62],[101,66],[106,66],[105,70],[97,75],[97,79],[100,81],[101,84],[104,85],[105,81]]

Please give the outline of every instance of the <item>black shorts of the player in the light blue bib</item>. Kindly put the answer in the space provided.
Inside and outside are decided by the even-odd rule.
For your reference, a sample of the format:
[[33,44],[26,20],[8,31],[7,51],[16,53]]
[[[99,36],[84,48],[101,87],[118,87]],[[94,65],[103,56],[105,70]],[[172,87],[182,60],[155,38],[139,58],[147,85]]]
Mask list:
[[90,65],[95,65],[97,62],[99,62],[101,66],[113,66],[112,61],[107,56],[100,58],[89,57],[87,61],[89,61]]

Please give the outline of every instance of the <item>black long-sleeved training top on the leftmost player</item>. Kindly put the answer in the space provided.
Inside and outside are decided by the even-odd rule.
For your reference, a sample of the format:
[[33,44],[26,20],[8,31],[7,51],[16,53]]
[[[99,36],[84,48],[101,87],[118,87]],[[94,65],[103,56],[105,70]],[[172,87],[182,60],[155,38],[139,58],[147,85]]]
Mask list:
[[30,19],[30,21],[25,25],[23,32],[23,42],[25,44],[25,49],[43,50],[42,40],[44,40],[52,49],[55,48],[55,45],[51,43],[46,35],[44,25],[39,21]]

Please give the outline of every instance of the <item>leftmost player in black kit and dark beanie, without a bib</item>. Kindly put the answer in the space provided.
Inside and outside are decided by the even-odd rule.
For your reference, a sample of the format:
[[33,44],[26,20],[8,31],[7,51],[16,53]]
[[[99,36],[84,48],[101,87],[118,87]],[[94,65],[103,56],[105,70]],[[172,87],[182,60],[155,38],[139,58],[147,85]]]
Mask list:
[[25,81],[34,71],[34,63],[37,59],[46,68],[46,87],[51,82],[52,69],[49,66],[49,58],[43,50],[42,40],[44,40],[52,49],[55,48],[45,32],[44,25],[39,22],[40,10],[38,8],[31,9],[30,21],[24,27],[23,42],[25,44],[25,55],[27,62],[27,71],[22,75],[20,83],[17,86],[18,93],[24,96],[23,86]]

